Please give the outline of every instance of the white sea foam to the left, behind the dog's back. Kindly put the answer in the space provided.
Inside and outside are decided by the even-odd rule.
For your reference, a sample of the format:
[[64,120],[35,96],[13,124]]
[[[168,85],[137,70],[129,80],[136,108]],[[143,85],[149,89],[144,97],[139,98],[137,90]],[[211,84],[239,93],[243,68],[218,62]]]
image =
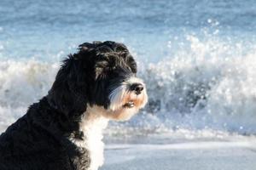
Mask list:
[[36,60],[0,61],[0,131],[48,93],[58,66]]

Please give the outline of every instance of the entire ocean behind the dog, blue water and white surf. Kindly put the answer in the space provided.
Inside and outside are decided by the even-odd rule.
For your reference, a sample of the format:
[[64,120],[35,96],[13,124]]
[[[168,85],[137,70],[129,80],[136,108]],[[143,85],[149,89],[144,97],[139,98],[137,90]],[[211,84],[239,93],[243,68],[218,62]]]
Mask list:
[[[210,0],[0,1],[0,132],[47,94],[83,42],[124,42],[148,105],[106,140],[253,138],[256,3]],[[148,136],[150,139],[148,139]]]

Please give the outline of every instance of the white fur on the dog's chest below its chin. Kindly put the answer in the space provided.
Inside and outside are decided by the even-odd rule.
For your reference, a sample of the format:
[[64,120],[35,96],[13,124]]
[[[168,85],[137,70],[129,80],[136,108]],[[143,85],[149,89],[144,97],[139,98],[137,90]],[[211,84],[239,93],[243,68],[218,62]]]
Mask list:
[[90,152],[89,170],[97,170],[104,162],[102,131],[108,126],[108,119],[102,116],[102,110],[97,107],[87,107],[80,124],[80,130],[84,133],[84,140],[73,140],[74,144],[86,148]]

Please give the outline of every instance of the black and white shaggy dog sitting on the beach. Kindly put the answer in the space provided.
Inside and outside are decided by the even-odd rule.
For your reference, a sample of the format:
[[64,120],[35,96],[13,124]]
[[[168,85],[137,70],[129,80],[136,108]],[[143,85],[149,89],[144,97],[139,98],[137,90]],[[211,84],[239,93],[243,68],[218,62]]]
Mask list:
[[96,170],[102,130],[146,105],[137,63],[124,44],[85,42],[69,54],[49,93],[0,136],[1,170]]

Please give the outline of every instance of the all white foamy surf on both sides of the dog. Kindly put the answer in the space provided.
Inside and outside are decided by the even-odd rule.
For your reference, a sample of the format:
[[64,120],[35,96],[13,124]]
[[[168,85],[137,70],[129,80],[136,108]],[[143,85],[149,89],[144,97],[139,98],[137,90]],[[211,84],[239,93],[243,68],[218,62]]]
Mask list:
[[[188,36],[186,43],[156,64],[139,60],[148,105],[129,122],[111,122],[106,133],[178,132],[187,138],[256,133],[253,44],[248,50],[243,43],[195,36]],[[58,62],[0,61],[1,131],[47,94],[58,68]]]

